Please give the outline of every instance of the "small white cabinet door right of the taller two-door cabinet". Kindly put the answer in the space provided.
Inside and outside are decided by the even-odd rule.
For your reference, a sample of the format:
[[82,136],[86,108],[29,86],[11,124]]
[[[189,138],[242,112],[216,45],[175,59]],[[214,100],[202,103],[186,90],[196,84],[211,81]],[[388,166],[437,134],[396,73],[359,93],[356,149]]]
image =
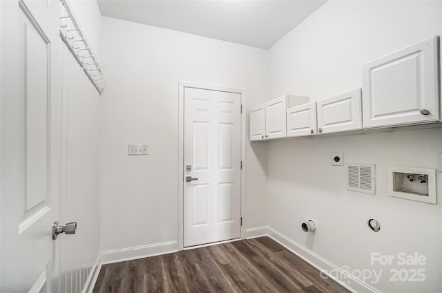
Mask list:
[[287,109],[287,137],[316,134],[316,102]]

